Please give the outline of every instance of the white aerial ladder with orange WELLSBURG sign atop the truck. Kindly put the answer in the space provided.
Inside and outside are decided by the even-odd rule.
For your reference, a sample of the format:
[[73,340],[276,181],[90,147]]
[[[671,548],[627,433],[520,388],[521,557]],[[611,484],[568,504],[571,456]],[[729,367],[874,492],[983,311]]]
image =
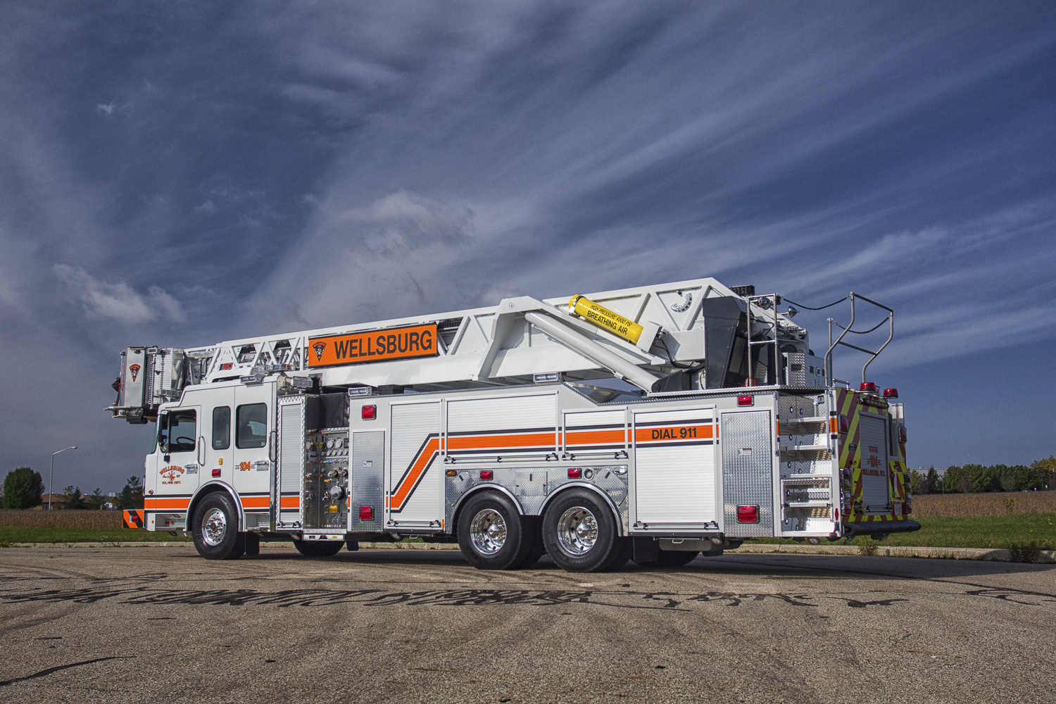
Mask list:
[[654,331],[653,340],[637,345],[570,312],[568,298],[520,297],[484,308],[232,340],[187,354],[202,383],[293,372],[318,374],[324,386],[442,391],[530,383],[550,374],[555,380],[616,376],[655,391],[662,377],[704,358],[701,308],[708,299],[729,297],[736,293],[714,279],[587,294]]

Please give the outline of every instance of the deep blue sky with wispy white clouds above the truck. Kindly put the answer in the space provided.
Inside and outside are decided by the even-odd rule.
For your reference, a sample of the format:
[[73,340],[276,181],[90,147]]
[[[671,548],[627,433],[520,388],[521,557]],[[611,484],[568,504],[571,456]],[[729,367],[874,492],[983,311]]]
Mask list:
[[911,467],[1056,454],[1052,2],[2,7],[0,472],[142,476],[129,345],[701,277],[891,306]]

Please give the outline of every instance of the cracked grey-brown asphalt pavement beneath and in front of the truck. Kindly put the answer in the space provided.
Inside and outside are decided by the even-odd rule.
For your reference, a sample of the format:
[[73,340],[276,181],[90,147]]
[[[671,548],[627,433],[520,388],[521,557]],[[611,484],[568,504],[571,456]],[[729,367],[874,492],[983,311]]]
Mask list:
[[1056,566],[0,549],[0,702],[1054,702]]

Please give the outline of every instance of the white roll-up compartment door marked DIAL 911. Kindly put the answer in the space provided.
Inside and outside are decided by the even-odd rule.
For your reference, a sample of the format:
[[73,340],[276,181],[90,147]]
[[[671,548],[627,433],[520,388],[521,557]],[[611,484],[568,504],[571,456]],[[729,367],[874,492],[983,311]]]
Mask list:
[[638,530],[718,528],[715,410],[636,413]]

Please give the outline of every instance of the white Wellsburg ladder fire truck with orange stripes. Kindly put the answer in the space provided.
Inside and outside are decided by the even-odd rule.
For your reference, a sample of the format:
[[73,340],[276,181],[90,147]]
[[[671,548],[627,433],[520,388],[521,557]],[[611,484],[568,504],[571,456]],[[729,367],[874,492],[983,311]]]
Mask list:
[[[573,572],[917,530],[903,406],[866,380],[893,311],[845,301],[821,356],[780,296],[714,279],[129,347],[109,411],[156,433],[127,519],[208,559],[416,537]],[[865,306],[874,350],[848,339]]]

